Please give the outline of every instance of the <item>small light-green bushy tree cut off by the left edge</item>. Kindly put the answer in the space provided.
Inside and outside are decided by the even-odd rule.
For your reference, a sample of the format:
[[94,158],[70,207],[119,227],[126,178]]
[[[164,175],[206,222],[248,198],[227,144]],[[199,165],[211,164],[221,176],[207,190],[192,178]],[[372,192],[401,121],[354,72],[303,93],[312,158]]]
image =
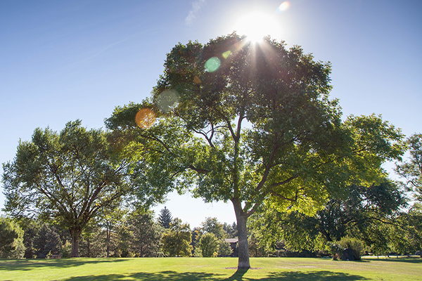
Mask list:
[[0,217],[0,259],[21,259],[23,254],[23,230],[12,220]]

